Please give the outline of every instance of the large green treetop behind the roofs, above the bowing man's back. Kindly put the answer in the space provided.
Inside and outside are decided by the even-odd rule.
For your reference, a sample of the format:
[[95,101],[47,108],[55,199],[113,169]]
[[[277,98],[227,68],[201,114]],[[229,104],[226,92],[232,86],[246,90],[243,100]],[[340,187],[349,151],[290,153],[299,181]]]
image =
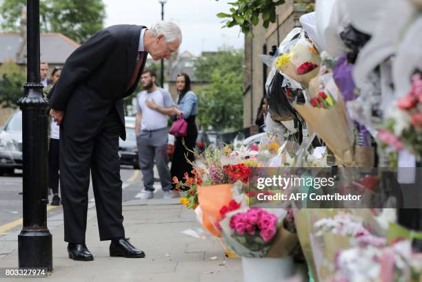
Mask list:
[[[26,0],[0,0],[1,30],[19,32]],[[102,0],[40,0],[41,32],[60,32],[83,43],[103,28],[106,10]]]

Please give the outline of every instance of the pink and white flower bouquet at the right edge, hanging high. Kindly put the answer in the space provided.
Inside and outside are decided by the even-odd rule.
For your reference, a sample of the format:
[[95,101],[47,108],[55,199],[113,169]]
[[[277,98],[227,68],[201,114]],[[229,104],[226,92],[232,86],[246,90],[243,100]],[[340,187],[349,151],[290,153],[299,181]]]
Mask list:
[[412,76],[412,89],[396,103],[385,126],[379,129],[378,138],[396,151],[406,148],[422,159],[421,74]]

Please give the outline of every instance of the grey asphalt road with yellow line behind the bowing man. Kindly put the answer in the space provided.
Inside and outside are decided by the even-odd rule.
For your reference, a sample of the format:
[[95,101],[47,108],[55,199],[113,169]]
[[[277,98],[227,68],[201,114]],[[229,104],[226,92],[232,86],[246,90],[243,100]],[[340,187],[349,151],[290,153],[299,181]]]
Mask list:
[[[131,167],[122,167],[121,180],[123,182],[123,202],[136,199],[143,190],[142,173]],[[157,170],[155,171],[157,176]],[[157,183],[158,184],[158,183]],[[154,185],[156,186],[156,185]],[[161,196],[161,188],[156,186],[155,197]],[[14,175],[0,176],[0,237],[21,229],[22,219],[22,171],[15,170]],[[89,190],[90,202],[94,202],[92,186]],[[49,195],[50,202],[52,195]],[[61,206],[47,206],[48,217],[63,213]]]

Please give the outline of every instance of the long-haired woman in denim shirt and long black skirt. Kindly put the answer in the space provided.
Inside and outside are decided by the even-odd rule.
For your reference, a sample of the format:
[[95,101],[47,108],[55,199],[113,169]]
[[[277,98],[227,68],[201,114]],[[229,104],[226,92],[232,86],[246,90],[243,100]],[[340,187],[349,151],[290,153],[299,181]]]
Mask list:
[[[178,180],[183,180],[185,173],[189,173],[192,176],[192,164],[188,160],[190,162],[194,161],[194,154],[191,151],[194,151],[195,145],[197,144],[198,129],[197,124],[195,124],[195,117],[197,116],[198,98],[190,89],[190,78],[188,74],[177,74],[176,89],[179,96],[176,105],[177,117],[179,119],[183,118],[188,124],[188,127],[185,130],[181,130],[181,135],[184,136],[175,134],[176,140],[170,173],[172,178],[175,176]],[[174,187],[175,184],[173,184]]]

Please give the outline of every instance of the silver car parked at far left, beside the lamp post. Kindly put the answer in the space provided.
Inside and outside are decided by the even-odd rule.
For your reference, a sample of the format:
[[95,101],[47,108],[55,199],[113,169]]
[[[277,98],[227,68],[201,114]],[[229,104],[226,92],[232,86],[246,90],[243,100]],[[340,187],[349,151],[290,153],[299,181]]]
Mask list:
[[17,111],[0,132],[0,174],[22,169],[22,112]]

